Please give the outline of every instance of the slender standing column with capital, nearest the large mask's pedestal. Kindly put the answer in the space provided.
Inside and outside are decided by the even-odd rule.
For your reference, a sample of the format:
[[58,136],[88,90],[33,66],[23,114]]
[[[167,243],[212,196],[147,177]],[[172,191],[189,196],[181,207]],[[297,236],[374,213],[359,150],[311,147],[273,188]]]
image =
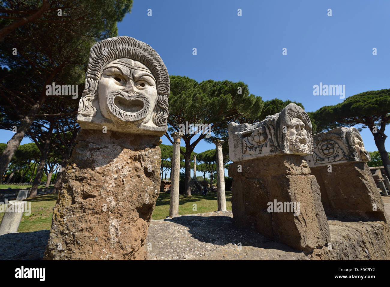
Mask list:
[[171,193],[169,202],[169,217],[179,215],[179,175],[180,175],[180,139],[183,133],[175,131],[173,138],[173,155],[171,168]]

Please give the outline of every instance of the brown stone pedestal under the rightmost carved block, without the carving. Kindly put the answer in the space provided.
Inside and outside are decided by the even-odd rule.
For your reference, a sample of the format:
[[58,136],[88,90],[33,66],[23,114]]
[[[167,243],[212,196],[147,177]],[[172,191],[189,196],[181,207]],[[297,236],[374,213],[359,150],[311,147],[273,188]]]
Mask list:
[[327,216],[358,220],[386,220],[385,207],[369,167],[347,162],[310,168],[320,186]]

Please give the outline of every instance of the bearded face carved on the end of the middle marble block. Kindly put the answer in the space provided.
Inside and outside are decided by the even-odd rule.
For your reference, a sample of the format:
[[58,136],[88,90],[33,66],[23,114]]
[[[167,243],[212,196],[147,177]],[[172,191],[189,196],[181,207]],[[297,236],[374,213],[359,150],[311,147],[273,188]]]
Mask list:
[[305,123],[299,118],[291,120],[291,126],[288,133],[290,150],[297,153],[309,153],[309,139]]

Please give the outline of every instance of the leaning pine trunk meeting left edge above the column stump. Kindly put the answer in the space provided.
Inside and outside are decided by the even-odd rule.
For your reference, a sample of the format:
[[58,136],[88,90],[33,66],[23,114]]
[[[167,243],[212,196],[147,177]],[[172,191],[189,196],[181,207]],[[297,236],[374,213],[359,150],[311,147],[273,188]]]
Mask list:
[[16,149],[19,147],[20,142],[23,140],[27,130],[30,128],[32,122],[35,119],[35,115],[41,108],[45,97],[42,96],[34,106],[32,106],[30,112],[20,120],[20,126],[17,128],[16,133],[12,136],[11,140],[7,142],[2,156],[0,157],[0,174],[4,174],[5,169],[8,167],[12,156],[14,155]]

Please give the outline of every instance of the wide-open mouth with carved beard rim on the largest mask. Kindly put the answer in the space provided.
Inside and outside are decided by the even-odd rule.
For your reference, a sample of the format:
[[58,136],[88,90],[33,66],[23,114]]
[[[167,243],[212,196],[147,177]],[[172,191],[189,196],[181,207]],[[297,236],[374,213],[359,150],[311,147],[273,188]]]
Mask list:
[[116,91],[108,94],[107,106],[116,118],[125,122],[135,122],[147,116],[150,102],[142,95],[128,96]]

